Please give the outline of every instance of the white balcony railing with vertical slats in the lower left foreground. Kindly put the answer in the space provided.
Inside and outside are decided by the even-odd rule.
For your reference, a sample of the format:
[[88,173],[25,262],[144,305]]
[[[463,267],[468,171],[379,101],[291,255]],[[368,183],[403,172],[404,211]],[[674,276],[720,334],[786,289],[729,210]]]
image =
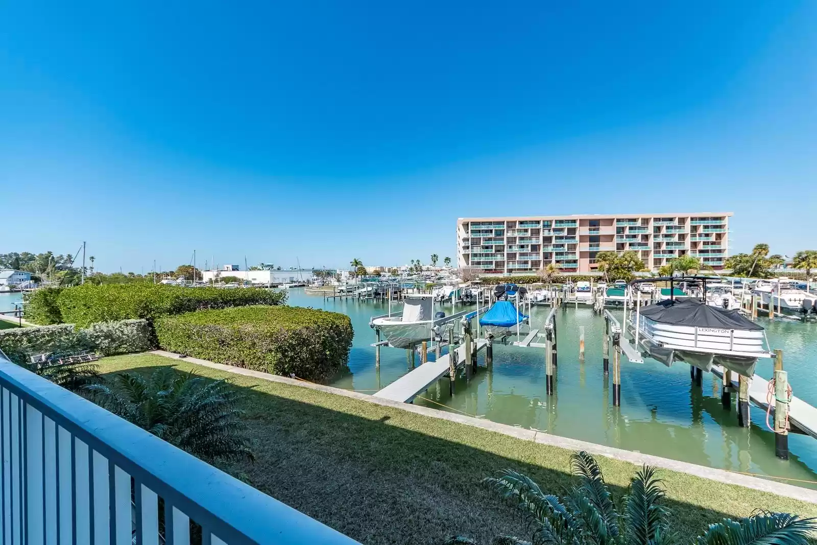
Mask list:
[[357,543],[2,352],[0,414],[2,543]]

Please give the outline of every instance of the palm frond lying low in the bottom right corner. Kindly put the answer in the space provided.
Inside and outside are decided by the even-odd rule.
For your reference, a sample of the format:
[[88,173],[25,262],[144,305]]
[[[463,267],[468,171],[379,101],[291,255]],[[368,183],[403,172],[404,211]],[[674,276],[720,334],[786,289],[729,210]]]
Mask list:
[[724,519],[699,536],[698,545],[806,545],[817,519],[762,512],[742,520]]

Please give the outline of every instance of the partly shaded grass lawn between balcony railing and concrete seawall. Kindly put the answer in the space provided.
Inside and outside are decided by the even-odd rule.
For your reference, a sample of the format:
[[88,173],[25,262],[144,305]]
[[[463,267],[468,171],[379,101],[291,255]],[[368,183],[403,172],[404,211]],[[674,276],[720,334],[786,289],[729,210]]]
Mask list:
[[[436,543],[450,534],[490,543],[497,534],[526,536],[519,518],[480,479],[512,468],[555,494],[573,482],[568,450],[456,422],[159,355],[109,357],[100,365],[104,373],[172,365],[245,388],[257,461],[236,469],[257,489],[362,543]],[[636,467],[598,461],[620,498]],[[673,471],[660,474],[679,543],[690,543],[723,516],[748,516],[758,507],[817,516],[810,503]]]

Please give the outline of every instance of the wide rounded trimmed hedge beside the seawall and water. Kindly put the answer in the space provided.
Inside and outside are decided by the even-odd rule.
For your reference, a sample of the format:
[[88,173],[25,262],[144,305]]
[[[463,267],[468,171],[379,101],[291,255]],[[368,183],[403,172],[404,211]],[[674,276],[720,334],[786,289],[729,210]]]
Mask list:
[[220,364],[324,381],[346,368],[349,316],[297,306],[242,306],[154,322],[164,350]]

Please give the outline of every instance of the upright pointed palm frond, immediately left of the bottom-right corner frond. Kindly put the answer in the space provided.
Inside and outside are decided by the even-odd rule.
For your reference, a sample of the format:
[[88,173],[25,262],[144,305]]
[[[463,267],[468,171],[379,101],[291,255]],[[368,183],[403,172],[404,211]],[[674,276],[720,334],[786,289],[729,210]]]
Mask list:
[[659,505],[665,492],[654,467],[644,466],[630,484],[624,508],[627,520],[627,543],[650,545],[656,534],[667,529],[668,511]]

